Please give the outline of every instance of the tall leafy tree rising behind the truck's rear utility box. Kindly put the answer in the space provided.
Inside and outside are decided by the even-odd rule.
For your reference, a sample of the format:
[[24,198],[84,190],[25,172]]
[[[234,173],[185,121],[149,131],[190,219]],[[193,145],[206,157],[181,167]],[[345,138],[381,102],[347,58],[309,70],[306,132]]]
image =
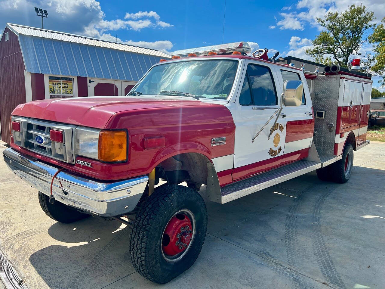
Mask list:
[[328,12],[325,19],[317,18],[323,31],[312,41],[313,48],[306,49],[312,57],[331,55],[331,62],[347,67],[350,55],[361,55],[358,50],[368,42],[368,34],[375,27],[370,24],[374,13],[364,5],[351,5],[345,12]]

